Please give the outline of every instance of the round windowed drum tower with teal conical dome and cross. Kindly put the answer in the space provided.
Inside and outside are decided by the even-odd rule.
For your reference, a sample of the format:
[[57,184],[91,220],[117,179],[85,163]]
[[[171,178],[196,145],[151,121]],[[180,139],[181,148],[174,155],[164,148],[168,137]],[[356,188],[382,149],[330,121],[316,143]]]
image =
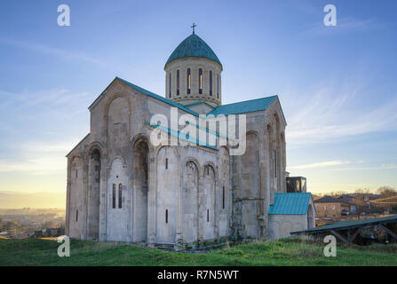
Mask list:
[[167,99],[181,105],[197,101],[221,105],[222,64],[210,46],[195,35],[195,29],[171,53],[164,70]]

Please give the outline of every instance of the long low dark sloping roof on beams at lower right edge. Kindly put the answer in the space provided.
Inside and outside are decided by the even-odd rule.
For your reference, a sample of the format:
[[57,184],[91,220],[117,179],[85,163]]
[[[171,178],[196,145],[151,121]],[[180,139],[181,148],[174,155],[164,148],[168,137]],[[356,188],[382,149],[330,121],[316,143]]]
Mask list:
[[322,233],[330,230],[345,230],[345,229],[353,229],[356,227],[367,226],[367,225],[377,225],[377,224],[386,224],[386,223],[397,223],[397,215],[389,216],[389,217],[380,217],[380,218],[370,218],[364,220],[350,220],[350,221],[341,221],[334,222],[327,225],[321,225],[312,229],[308,229],[305,231],[298,231],[294,233]]

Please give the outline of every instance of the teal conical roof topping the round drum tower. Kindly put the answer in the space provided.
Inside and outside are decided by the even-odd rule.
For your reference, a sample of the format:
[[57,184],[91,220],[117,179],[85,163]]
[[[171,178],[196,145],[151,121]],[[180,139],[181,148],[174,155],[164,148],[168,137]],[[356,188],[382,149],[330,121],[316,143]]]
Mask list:
[[222,63],[220,63],[215,52],[211,50],[210,46],[205,43],[200,36],[195,34],[187,36],[182,43],[179,43],[175,51],[171,53],[171,56],[165,63],[165,66],[167,66],[167,64],[173,60],[187,57],[201,57],[204,59],[210,59],[218,62],[222,67]]

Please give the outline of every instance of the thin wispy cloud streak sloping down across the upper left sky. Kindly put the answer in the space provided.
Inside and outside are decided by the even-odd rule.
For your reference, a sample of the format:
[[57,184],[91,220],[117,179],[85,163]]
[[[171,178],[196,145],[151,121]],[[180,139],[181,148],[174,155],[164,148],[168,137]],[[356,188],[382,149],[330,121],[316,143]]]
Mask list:
[[101,67],[107,67],[108,64],[107,62],[100,60],[100,59],[95,59],[92,58],[89,55],[84,54],[81,51],[66,51],[62,50],[60,48],[44,45],[41,43],[32,43],[32,42],[26,42],[26,41],[18,41],[18,40],[12,40],[12,39],[7,39],[7,38],[0,38],[0,43],[5,43],[8,45],[12,45],[14,47],[19,47],[28,51],[36,51],[40,52],[43,54],[55,56],[59,59],[63,60],[79,60],[83,62],[88,62],[94,65],[98,65]]

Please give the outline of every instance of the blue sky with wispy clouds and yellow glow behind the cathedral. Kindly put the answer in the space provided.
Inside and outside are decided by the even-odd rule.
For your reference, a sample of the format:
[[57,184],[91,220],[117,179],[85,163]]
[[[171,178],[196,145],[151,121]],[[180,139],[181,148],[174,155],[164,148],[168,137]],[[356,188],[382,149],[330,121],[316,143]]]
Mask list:
[[[58,26],[60,4],[69,27]],[[335,27],[323,24],[326,4]],[[164,64],[194,22],[224,67],[224,104],[279,96],[287,170],[307,177],[308,191],[397,187],[396,9],[393,0],[2,1],[0,191],[66,196],[65,155],[89,132],[87,107],[115,76],[163,96]]]

